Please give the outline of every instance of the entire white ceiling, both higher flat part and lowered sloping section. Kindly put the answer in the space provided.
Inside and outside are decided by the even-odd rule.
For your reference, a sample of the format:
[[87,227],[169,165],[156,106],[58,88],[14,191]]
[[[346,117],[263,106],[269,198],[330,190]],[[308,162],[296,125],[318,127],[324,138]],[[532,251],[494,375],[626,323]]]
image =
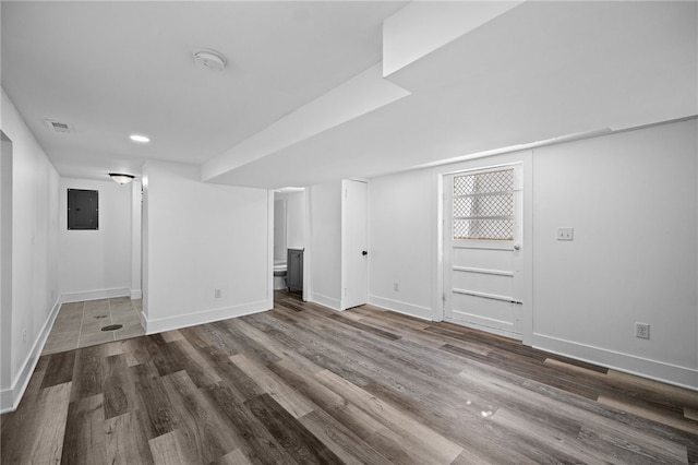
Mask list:
[[[303,127],[381,62],[382,22],[404,7],[3,1],[2,87],[62,176],[163,159],[265,188],[698,114],[697,2],[527,1],[387,76],[407,96]],[[228,68],[194,67],[200,47]]]

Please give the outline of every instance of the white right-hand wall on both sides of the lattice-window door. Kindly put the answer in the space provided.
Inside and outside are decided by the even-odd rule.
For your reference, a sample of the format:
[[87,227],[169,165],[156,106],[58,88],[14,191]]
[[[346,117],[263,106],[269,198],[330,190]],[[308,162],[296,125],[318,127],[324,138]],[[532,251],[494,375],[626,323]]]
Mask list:
[[[697,135],[690,120],[533,150],[532,345],[698,386]],[[435,178],[448,170],[371,180],[371,302],[441,318]]]

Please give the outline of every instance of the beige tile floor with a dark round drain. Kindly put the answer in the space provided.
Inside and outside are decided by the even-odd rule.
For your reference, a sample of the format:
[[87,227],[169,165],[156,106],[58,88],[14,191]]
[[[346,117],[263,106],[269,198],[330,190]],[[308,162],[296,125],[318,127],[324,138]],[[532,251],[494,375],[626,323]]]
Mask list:
[[[142,305],[142,300],[128,297],[63,303],[41,355],[142,336],[145,334],[139,318]],[[123,327],[101,331],[110,324]]]

